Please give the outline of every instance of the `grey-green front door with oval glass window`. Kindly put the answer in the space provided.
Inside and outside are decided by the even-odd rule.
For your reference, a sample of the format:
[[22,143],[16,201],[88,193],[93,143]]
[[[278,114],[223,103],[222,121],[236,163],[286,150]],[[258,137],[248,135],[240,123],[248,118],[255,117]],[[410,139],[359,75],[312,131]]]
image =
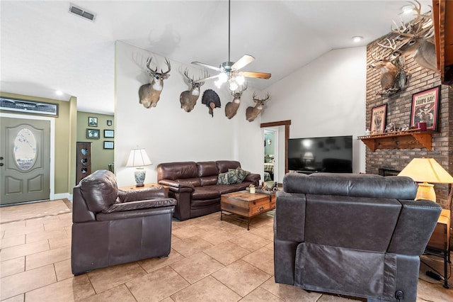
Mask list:
[[50,121],[1,118],[0,204],[50,198]]

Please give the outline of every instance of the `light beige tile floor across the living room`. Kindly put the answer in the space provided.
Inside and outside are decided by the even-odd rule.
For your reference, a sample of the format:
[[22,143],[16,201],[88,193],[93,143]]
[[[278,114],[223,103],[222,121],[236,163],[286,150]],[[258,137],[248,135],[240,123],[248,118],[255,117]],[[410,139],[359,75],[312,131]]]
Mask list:
[[[174,220],[169,257],[74,276],[68,206],[49,201],[0,208],[1,301],[355,300],[275,284],[272,211],[253,219],[249,231],[245,223],[219,220],[220,213]],[[442,268],[440,258],[423,258]],[[422,264],[418,301],[453,301],[453,289],[425,276],[427,270]]]

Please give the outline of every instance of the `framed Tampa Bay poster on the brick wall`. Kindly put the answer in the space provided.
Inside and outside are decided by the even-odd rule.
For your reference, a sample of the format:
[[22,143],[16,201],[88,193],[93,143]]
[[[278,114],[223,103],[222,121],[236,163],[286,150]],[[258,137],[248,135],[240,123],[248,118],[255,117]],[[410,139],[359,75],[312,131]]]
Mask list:
[[437,130],[440,86],[420,91],[412,95],[411,127],[425,122],[426,130]]

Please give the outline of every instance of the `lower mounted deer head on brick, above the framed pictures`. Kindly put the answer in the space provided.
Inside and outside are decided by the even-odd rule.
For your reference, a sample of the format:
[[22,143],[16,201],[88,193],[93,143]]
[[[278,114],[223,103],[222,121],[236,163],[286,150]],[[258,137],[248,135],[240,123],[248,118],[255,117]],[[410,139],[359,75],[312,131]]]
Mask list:
[[[390,48],[391,52],[389,53],[389,55],[384,57],[384,52],[382,52],[382,55],[379,58],[377,58],[374,57],[372,51],[371,57],[375,62],[369,65],[369,67],[379,69],[381,71],[381,86],[382,89],[384,90],[393,88],[396,74],[398,74],[398,69],[396,68],[394,63],[391,62],[391,57],[393,56],[393,53],[396,50],[395,41],[393,41],[392,44],[392,42],[389,39],[386,40],[389,42],[389,46],[379,43],[377,43],[377,45],[384,48]],[[376,50],[376,52],[378,51]]]

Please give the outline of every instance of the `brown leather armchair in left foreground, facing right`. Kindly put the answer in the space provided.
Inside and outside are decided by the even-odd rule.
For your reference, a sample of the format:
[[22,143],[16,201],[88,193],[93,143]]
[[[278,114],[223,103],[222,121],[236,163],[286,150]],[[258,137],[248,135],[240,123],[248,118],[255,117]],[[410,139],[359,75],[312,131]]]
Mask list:
[[168,256],[175,205],[163,186],[118,191],[107,170],[82,179],[73,190],[72,274]]

